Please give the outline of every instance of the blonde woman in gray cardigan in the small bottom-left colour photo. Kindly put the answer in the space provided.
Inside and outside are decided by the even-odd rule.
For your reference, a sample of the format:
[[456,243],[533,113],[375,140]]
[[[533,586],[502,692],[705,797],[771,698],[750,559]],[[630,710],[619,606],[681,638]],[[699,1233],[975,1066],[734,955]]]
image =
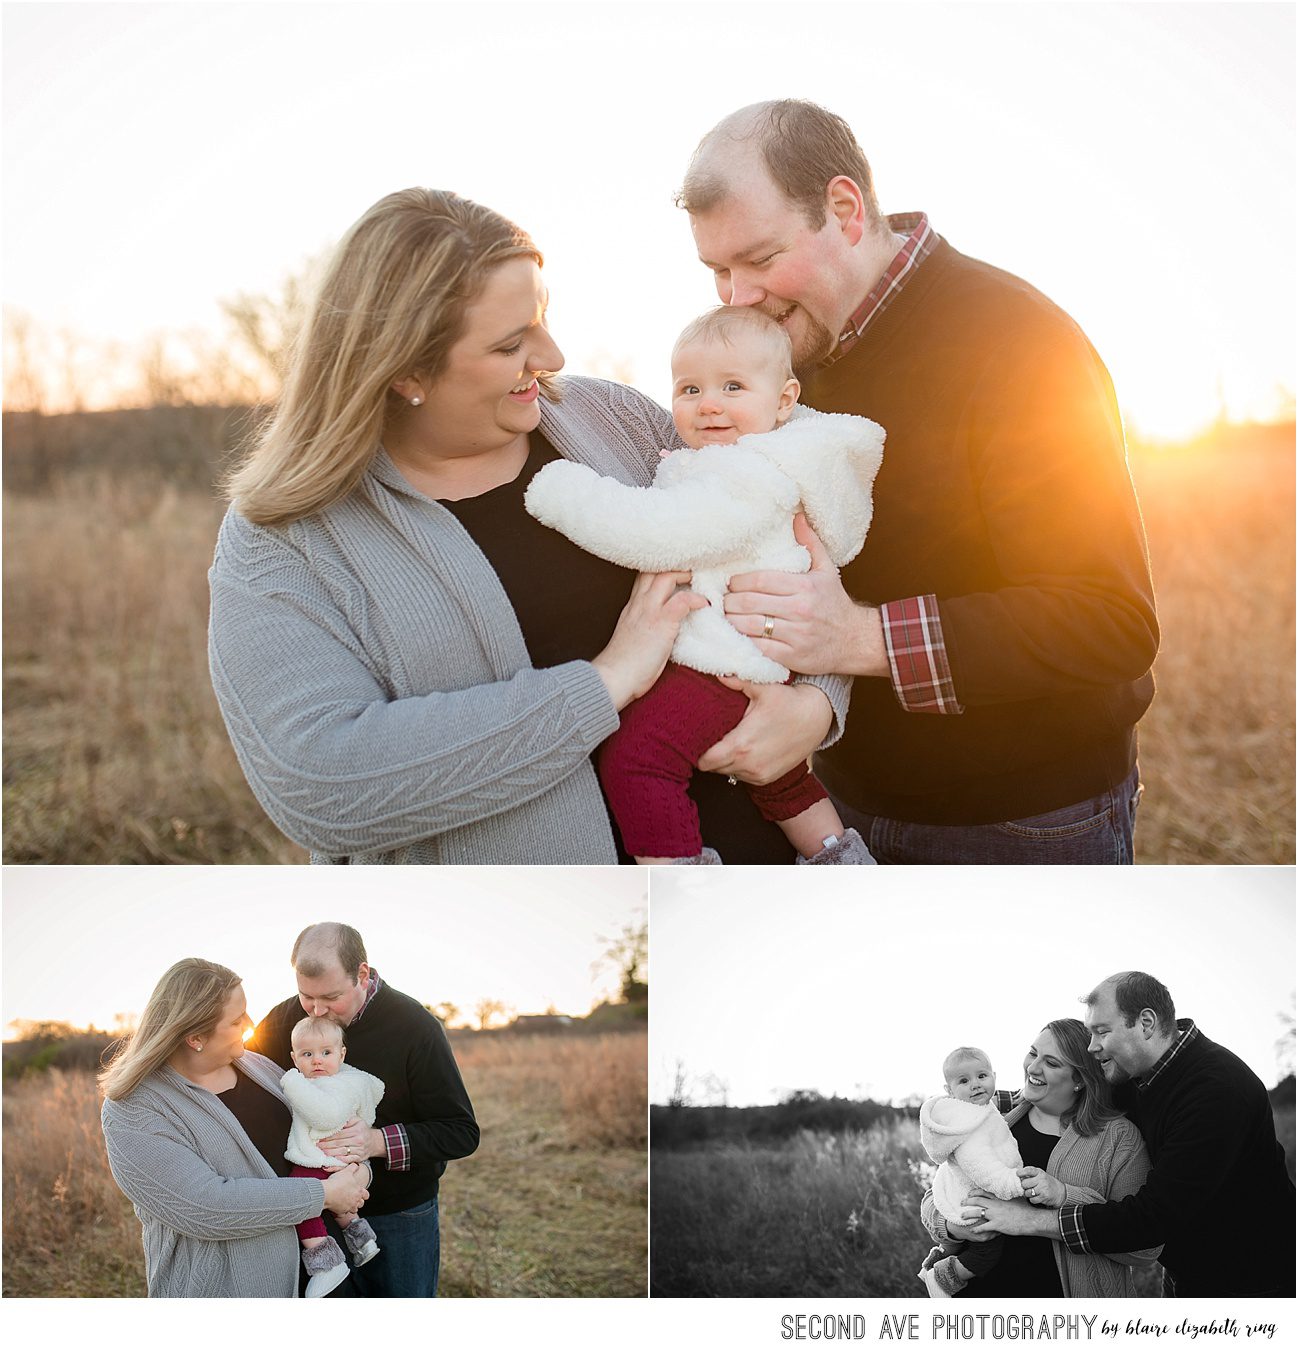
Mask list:
[[245,1052],[239,977],[187,957],[100,1078],[108,1165],[143,1232],[150,1297],[292,1297],[293,1226],[354,1211],[368,1169],[287,1178],[283,1071]]

